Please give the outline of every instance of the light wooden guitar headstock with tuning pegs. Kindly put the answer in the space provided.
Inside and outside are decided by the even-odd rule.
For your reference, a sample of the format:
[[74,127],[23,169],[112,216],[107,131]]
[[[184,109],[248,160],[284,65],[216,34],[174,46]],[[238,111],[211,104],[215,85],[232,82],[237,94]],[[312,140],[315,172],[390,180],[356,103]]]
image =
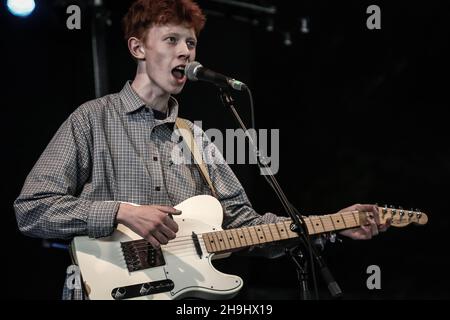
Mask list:
[[416,210],[405,210],[400,208],[393,208],[390,206],[378,207],[378,214],[380,216],[381,223],[385,223],[387,219],[391,219],[391,226],[393,227],[406,227],[413,223],[416,225],[425,225],[428,222],[428,216]]

